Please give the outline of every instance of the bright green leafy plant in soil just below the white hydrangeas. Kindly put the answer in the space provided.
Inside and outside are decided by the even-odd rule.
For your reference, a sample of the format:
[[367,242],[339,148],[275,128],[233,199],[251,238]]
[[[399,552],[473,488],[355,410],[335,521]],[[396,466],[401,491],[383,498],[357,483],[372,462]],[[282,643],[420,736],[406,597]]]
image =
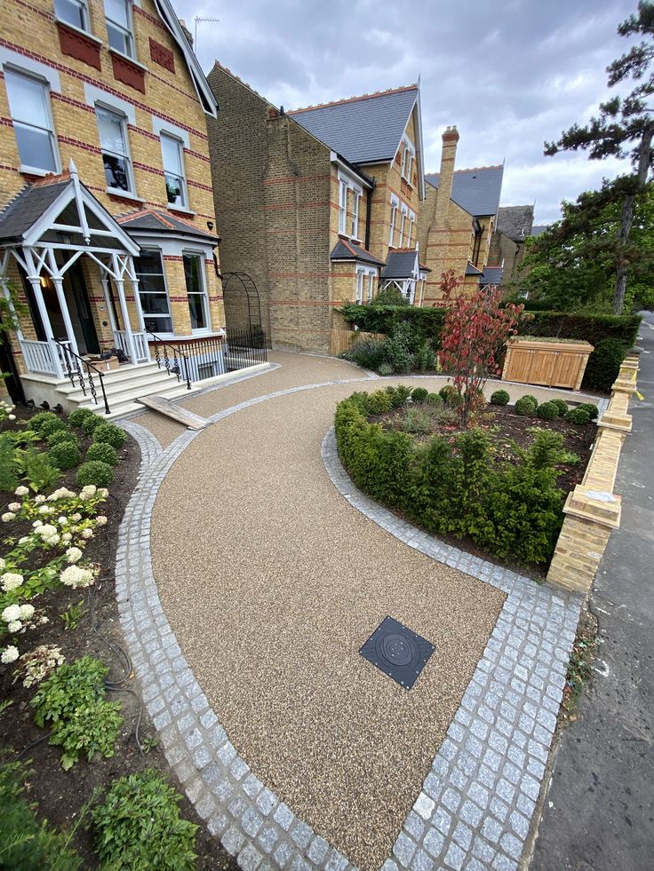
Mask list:
[[63,749],[61,767],[68,771],[83,753],[114,755],[123,724],[120,702],[105,701],[107,666],[92,656],[65,663],[39,687],[30,704],[36,725],[51,726],[50,743]]

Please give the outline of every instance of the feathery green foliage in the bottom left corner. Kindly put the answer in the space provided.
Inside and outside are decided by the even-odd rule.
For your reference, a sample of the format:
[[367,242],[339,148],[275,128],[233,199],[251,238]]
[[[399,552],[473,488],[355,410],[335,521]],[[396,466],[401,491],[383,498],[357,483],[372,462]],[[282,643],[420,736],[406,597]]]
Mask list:
[[68,846],[68,835],[38,820],[25,798],[28,766],[0,764],[0,868],[11,871],[77,871],[82,858]]

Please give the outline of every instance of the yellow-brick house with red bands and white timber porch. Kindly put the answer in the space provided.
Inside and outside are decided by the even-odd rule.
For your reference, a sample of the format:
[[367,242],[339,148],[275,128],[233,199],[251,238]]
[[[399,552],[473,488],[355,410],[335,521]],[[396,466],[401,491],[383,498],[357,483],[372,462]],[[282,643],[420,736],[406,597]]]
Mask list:
[[206,128],[217,104],[169,0],[5,0],[2,10],[0,282],[18,295],[20,329],[0,368],[12,395],[88,403],[81,358],[111,349],[112,365],[123,362],[103,380],[112,414],[172,395],[177,379],[153,356],[184,369],[184,352],[181,376],[218,376]]

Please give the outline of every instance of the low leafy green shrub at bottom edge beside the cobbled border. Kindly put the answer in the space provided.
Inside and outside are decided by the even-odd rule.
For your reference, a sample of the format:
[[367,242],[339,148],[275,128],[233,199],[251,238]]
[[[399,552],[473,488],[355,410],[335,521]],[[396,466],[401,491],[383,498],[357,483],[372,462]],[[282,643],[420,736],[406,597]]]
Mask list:
[[114,780],[104,802],[92,810],[102,867],[192,871],[198,827],[179,816],[180,801],[152,768]]

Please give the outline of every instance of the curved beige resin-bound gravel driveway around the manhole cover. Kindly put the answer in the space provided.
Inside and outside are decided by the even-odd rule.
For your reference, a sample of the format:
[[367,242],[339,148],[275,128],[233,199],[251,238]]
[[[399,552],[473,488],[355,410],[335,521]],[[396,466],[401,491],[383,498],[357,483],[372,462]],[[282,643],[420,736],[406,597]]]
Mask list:
[[[317,841],[322,835],[359,867],[379,867],[392,850],[404,866],[400,832],[416,816],[417,796],[427,808],[424,819],[434,809],[420,790],[446,732],[456,733],[448,726],[460,715],[467,687],[470,692],[506,592],[519,581],[528,590],[522,598],[533,597],[530,608],[555,606],[558,616],[548,620],[565,622],[563,648],[571,644],[578,605],[567,613],[567,598],[541,593],[501,569],[497,583],[485,583],[480,576],[491,564],[476,560],[487,567],[466,574],[427,556],[424,547],[407,546],[353,507],[325,471],[321,444],[339,400],[387,380],[362,381],[365,373],[340,360],[281,353],[271,360],[281,367],[180,403],[210,417],[267,397],[211,423],[175,454],[149,530],[156,590],[181,653],[252,772],[313,827]],[[343,380],[353,383],[333,384]],[[444,379],[395,381],[437,390]],[[507,389],[512,399],[527,392],[522,385]],[[155,415],[133,423],[171,450],[187,438],[181,426]],[[387,615],[435,645],[410,693],[358,654]],[[554,644],[552,638],[545,646],[554,650]],[[567,652],[555,653],[558,687]],[[546,679],[538,680],[545,687]],[[536,797],[529,811],[521,809],[527,826]],[[498,857],[506,860],[501,867],[514,867],[508,856],[522,841],[506,837],[513,841]],[[437,838],[430,843],[435,849]],[[448,856],[465,855],[458,844]],[[415,843],[410,847],[413,855]],[[424,867],[434,867],[427,853],[419,855]],[[463,867],[455,859],[448,867]],[[239,861],[248,867],[244,853]],[[420,866],[414,859],[411,867]]]

